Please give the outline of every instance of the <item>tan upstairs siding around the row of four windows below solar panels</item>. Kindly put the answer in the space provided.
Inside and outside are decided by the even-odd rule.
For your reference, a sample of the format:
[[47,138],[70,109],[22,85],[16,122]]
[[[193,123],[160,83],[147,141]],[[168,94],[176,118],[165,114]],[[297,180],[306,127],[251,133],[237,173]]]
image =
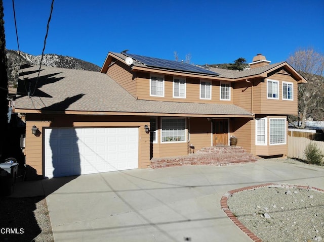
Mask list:
[[[173,78],[174,76],[164,75],[165,78],[165,95],[164,97],[150,96],[150,74],[140,73],[136,74],[137,83],[137,97],[140,100],[154,100],[166,102],[185,102],[185,103],[219,103],[219,104],[233,104],[233,88],[231,87],[231,100],[220,100],[220,81],[212,81],[212,99],[200,99],[200,79],[186,78],[186,98],[173,98]],[[203,80],[203,79],[202,79]]]

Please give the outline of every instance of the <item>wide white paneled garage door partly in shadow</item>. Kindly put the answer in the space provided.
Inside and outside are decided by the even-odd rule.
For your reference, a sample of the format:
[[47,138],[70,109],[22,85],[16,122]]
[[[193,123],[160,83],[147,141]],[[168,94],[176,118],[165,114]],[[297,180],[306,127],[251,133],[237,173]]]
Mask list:
[[45,176],[138,168],[138,128],[45,129]]

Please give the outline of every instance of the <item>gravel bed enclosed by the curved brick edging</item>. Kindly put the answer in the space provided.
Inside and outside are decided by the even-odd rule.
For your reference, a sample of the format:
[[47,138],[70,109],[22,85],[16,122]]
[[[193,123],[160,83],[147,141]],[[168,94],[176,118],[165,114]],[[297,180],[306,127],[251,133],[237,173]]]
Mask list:
[[227,205],[264,242],[324,241],[324,192],[278,186],[236,192]]

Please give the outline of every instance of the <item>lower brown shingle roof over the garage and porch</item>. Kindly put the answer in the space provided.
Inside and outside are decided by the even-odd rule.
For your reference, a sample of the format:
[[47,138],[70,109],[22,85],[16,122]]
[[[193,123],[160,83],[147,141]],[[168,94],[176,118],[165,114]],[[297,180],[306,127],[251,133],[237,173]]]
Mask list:
[[[107,74],[93,71],[42,67],[34,90],[38,66],[20,73],[16,109],[52,111],[132,112],[193,115],[251,115],[230,104],[178,103],[136,100]],[[23,83],[25,80],[25,84]],[[27,94],[28,81],[31,93]]]

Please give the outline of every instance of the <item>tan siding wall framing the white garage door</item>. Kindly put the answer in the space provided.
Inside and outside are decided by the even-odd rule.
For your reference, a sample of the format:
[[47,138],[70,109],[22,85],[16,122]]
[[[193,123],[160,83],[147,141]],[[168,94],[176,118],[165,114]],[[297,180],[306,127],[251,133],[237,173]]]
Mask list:
[[[51,120],[43,121],[43,120]],[[132,121],[130,121],[132,120]],[[26,119],[26,165],[34,168],[38,175],[43,174],[43,132],[47,127],[139,127],[139,168],[150,165],[149,134],[144,130],[144,125],[149,125],[148,117],[112,117],[112,116],[77,116],[77,115],[32,115]],[[41,134],[35,136],[31,127],[35,125]]]

